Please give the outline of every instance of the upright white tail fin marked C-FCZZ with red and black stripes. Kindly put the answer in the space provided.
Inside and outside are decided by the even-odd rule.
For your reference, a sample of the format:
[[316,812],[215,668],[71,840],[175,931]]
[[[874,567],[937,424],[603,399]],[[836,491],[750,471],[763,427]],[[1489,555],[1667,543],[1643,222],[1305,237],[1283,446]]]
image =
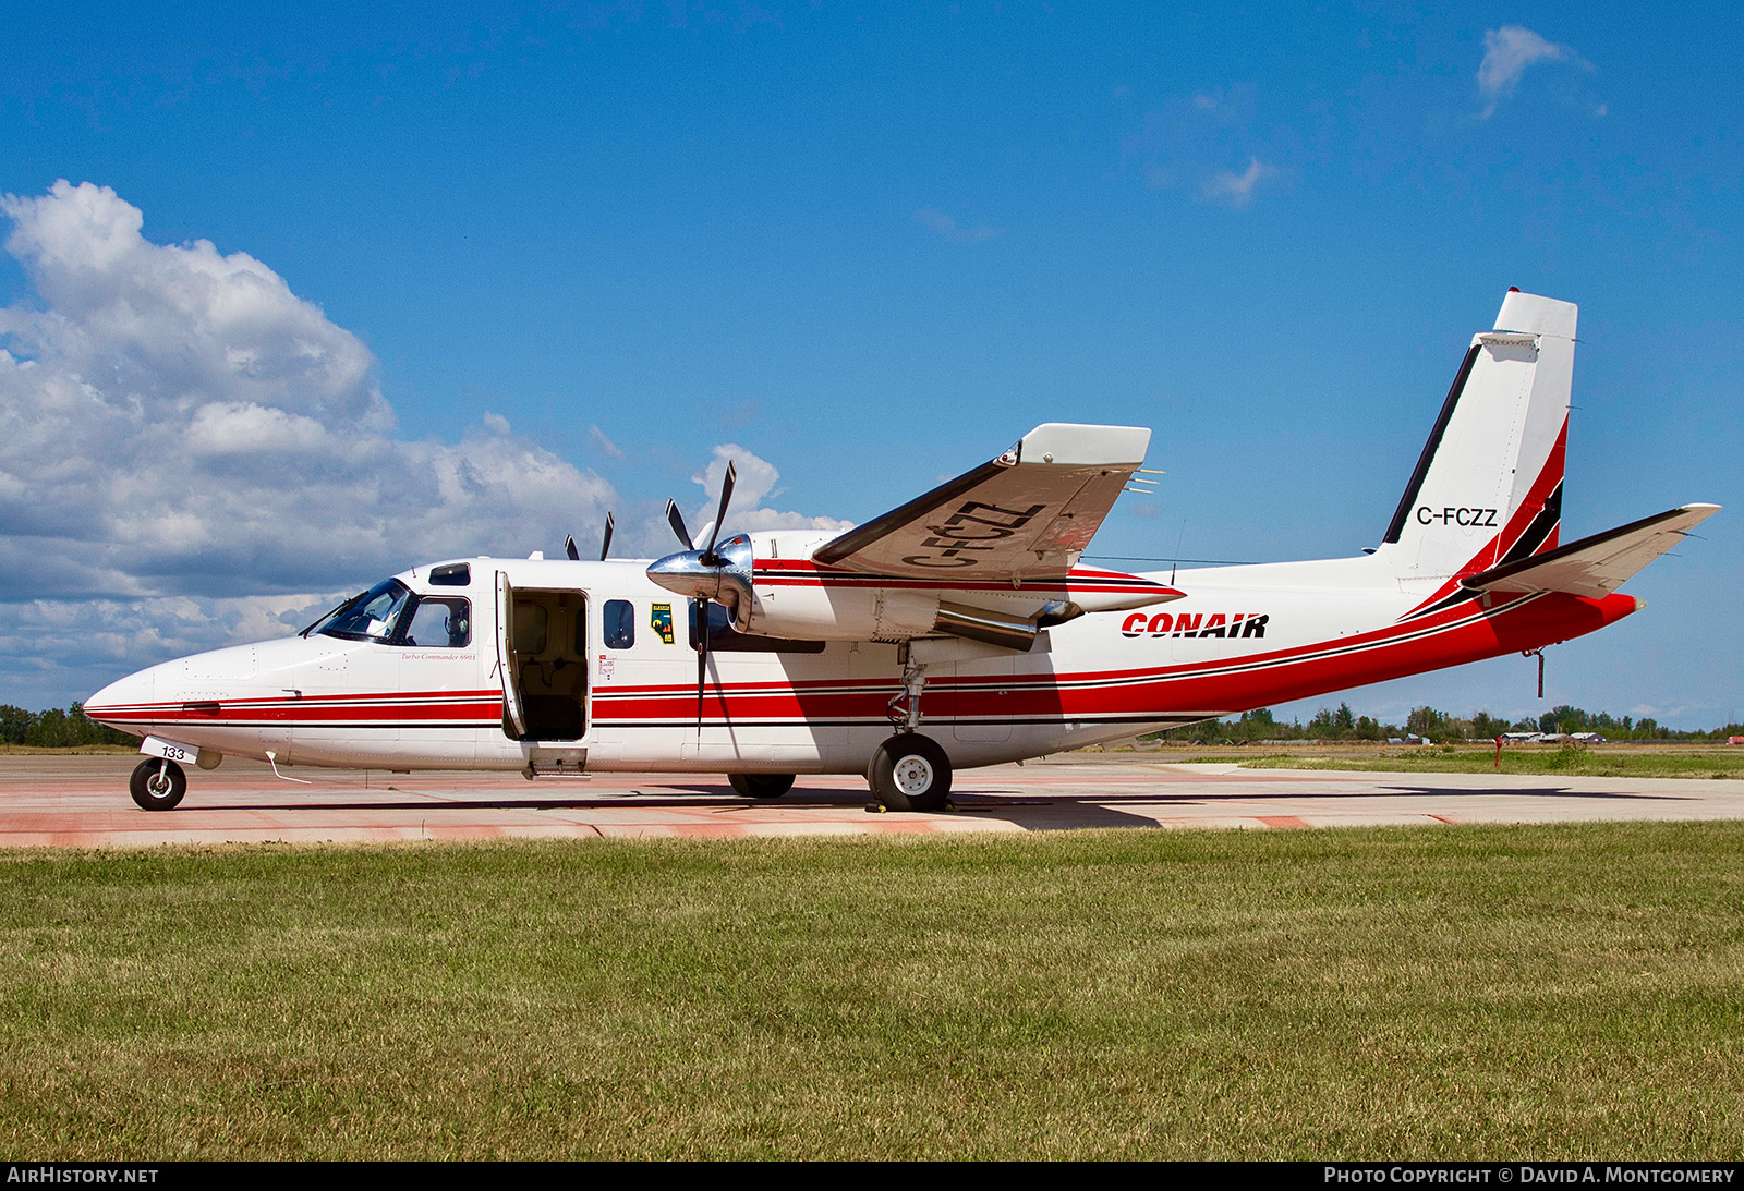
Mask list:
[[1472,337],[1378,551],[1402,581],[1451,588],[1556,548],[1575,316],[1510,289],[1495,330]]

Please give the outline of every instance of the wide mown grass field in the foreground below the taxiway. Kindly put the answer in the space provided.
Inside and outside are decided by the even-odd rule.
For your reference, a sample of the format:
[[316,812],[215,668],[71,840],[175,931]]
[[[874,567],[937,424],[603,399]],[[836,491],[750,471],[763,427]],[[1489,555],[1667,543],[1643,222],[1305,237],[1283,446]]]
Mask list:
[[1741,854],[1741,823],[0,853],[0,1149],[1737,1160]]

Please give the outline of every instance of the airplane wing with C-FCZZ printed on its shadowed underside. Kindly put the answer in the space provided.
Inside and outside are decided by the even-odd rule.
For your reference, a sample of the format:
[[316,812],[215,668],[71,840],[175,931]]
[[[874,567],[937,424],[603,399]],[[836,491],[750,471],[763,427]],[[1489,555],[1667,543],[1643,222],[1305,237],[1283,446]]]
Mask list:
[[811,556],[869,575],[1064,579],[1149,445],[1142,427],[1048,422]]

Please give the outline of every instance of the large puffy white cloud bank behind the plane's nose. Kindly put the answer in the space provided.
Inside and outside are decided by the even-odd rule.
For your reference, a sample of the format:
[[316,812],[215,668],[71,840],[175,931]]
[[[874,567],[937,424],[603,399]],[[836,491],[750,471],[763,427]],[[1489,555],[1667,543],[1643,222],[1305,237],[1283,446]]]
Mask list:
[[[106,187],[58,181],[0,213],[35,289],[0,309],[0,701],[65,704],[286,636],[408,565],[551,553],[624,511],[499,413],[459,443],[396,438],[358,337],[244,253],[146,241]],[[715,448],[717,492],[722,452],[732,528],[846,527],[760,507],[778,473],[741,446]],[[670,541],[647,521],[619,556]]]

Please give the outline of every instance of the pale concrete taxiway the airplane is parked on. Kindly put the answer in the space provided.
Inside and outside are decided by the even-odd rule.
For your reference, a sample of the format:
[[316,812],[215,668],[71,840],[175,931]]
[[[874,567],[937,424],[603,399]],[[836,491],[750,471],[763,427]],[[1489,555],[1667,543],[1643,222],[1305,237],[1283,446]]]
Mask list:
[[419,839],[752,837],[1041,832],[1083,827],[1299,828],[1744,818],[1744,781],[1327,772],[1074,753],[956,776],[944,814],[867,811],[865,781],[802,776],[752,802],[726,778],[296,769],[225,759],[174,811],[127,797],[138,757],[0,757],[0,847]]

